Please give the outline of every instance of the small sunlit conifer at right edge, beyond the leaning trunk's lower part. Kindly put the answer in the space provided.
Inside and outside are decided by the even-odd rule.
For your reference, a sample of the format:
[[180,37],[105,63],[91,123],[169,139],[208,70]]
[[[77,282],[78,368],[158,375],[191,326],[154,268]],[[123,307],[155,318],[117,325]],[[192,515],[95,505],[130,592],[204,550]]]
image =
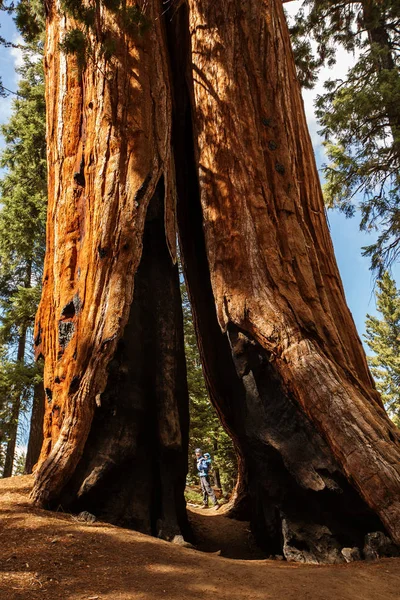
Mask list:
[[388,272],[377,285],[381,318],[367,315],[364,337],[374,353],[368,362],[386,410],[400,427],[400,291]]

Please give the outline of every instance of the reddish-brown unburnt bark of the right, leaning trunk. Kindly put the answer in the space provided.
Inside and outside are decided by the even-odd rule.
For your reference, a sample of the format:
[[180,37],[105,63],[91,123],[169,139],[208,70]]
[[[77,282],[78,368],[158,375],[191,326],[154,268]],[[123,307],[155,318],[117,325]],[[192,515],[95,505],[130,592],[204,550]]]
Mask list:
[[[189,8],[207,259],[218,322],[242,381],[253,377],[247,402],[275,377],[399,542],[399,433],[346,306],[281,3]],[[287,439],[265,442],[308,487],[329,487],[310,458],[293,462]]]

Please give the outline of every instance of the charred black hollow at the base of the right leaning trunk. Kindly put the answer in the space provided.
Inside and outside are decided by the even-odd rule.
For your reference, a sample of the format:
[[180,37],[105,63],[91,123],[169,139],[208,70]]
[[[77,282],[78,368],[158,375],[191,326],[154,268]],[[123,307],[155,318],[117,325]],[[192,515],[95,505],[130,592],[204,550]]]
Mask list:
[[243,453],[256,539],[288,560],[343,562],[342,548],[363,548],[367,533],[384,531],[381,521],[284,389],[271,357],[233,326],[228,337],[246,393]]

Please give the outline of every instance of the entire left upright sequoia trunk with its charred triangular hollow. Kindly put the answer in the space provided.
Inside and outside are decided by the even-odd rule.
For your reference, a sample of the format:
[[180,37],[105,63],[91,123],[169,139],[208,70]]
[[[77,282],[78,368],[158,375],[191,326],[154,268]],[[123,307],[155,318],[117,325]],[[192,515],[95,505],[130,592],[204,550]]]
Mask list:
[[144,36],[98,6],[83,72],[59,51],[77,24],[60,2],[47,5],[49,212],[35,337],[47,407],[33,498],[168,537],[186,526],[188,399],[162,7],[144,4]]

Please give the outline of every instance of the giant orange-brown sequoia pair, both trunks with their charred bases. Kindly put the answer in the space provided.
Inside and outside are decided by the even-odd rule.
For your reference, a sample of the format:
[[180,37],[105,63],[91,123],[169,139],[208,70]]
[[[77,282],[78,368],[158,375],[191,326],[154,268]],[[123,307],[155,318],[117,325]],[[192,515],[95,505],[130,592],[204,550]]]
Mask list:
[[289,559],[399,542],[399,433],[345,303],[280,1],[46,6],[33,499],[187,531],[178,230],[238,510]]

